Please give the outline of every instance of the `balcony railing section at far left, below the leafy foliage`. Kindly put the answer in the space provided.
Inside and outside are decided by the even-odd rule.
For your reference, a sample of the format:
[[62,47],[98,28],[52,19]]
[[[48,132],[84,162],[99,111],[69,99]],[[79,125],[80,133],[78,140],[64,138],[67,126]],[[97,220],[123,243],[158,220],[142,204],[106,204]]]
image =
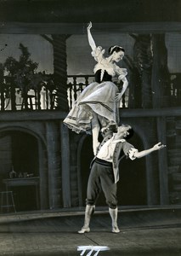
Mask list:
[[[20,88],[4,77],[0,83],[0,107],[5,110],[42,110],[56,107],[56,90],[52,79],[42,81],[36,88]],[[34,86],[35,87],[35,86]]]

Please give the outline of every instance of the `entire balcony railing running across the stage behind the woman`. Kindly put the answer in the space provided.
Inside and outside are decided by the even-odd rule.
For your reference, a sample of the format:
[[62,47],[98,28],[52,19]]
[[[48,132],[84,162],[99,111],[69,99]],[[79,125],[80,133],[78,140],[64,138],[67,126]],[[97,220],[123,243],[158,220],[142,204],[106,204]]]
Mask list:
[[[179,107],[181,105],[181,79],[180,74],[171,74],[170,87],[167,88],[167,107]],[[93,75],[69,75],[67,76],[67,96],[69,108],[71,109],[88,84],[94,81]],[[117,84],[117,86],[122,86]],[[129,87],[132,84],[129,85]],[[0,109],[1,111],[16,110],[53,110],[56,108],[57,91],[56,86],[44,82],[37,89],[23,91],[4,77],[0,83]],[[122,97],[120,108],[129,107],[129,87]],[[141,106],[140,106],[141,108]]]

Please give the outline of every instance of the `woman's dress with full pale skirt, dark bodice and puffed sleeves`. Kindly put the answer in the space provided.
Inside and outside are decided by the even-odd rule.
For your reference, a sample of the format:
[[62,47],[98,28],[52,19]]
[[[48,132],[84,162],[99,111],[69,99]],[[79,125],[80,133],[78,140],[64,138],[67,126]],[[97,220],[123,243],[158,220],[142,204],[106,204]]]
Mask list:
[[70,113],[64,119],[64,124],[76,133],[87,132],[91,134],[91,121],[93,115],[97,114],[101,129],[110,124],[119,122],[119,102],[116,102],[116,93],[119,90],[112,82],[116,75],[125,77],[124,69],[110,63],[104,56],[105,50],[97,47],[92,55],[98,63],[93,71],[95,82],[89,84],[80,96],[78,96],[75,105]]

